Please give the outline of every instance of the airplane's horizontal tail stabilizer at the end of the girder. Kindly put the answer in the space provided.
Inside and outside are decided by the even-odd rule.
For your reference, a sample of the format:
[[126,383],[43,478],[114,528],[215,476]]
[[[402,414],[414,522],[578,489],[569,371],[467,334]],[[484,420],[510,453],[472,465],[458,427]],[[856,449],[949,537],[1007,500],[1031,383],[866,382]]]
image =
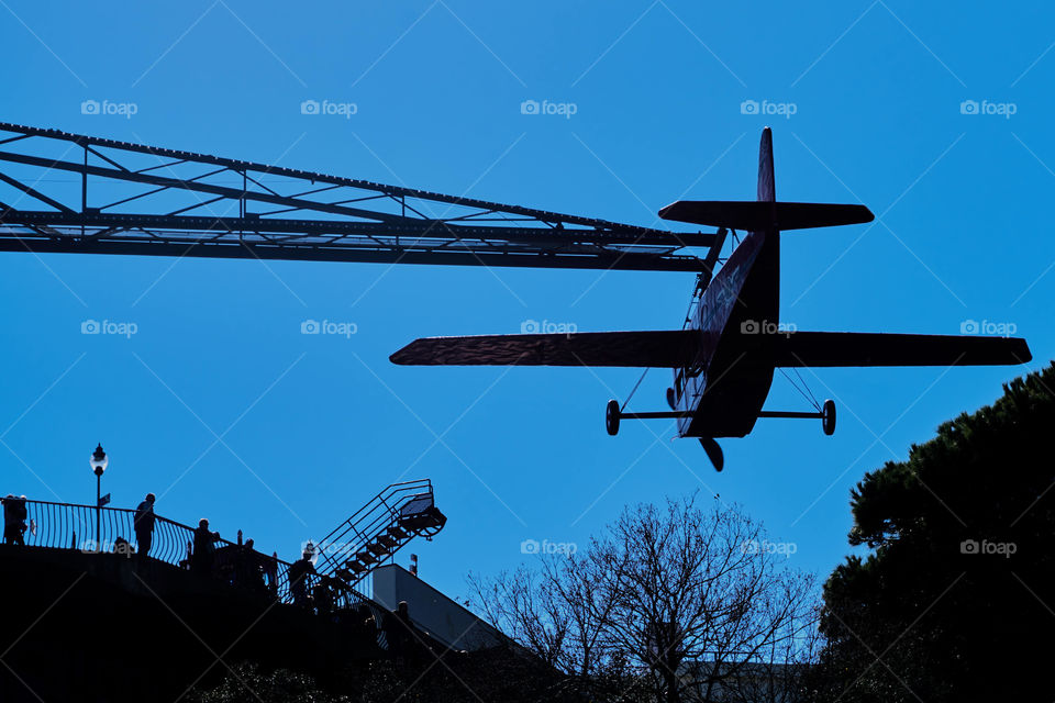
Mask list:
[[664,220],[691,222],[730,230],[807,230],[871,222],[864,205],[822,202],[759,202],[738,200],[679,200],[659,211]]

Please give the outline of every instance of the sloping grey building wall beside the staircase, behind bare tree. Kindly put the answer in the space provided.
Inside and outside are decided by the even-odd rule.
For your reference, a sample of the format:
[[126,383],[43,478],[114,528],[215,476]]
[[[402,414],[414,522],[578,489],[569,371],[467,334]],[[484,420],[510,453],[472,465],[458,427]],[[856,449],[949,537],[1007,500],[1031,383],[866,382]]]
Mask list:
[[465,606],[398,565],[378,567],[373,580],[375,601],[389,610],[407,601],[414,625],[453,649],[485,649],[504,639]]

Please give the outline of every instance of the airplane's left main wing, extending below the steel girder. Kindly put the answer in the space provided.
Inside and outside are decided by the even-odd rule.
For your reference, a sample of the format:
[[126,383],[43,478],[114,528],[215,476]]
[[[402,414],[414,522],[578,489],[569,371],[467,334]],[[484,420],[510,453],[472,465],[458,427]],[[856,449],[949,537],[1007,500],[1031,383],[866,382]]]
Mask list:
[[415,339],[391,355],[393,364],[452,366],[685,366],[699,332],[585,332],[497,334]]

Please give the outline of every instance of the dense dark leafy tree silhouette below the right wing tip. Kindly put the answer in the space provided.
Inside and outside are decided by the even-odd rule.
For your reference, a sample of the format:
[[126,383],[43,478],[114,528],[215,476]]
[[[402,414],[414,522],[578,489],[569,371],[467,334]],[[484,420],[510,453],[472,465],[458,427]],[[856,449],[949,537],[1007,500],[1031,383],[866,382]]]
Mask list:
[[1055,365],[857,483],[849,542],[873,551],[825,583],[820,700],[1051,693],[1053,437]]

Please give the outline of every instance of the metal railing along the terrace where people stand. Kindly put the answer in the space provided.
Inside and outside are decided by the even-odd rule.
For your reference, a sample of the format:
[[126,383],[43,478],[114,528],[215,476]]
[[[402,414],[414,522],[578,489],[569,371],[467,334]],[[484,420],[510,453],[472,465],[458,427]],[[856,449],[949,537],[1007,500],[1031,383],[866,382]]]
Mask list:
[[[130,555],[138,549],[134,510],[31,500],[25,501],[25,507],[27,529],[24,540],[27,547],[111,554],[127,549]],[[191,568],[195,531],[190,526],[155,515],[152,537],[149,558],[180,569]],[[214,547],[212,577],[232,587],[267,593],[282,603],[295,602],[289,581],[290,562],[223,538],[216,539]],[[326,585],[334,610],[365,605],[380,622],[384,609],[338,580],[308,574],[304,590],[310,594],[321,583]]]

